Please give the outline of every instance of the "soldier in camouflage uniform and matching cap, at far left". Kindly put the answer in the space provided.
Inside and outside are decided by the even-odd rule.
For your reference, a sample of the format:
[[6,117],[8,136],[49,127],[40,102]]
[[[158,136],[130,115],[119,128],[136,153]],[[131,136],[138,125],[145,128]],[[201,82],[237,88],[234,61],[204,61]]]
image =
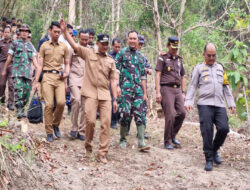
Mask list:
[[[13,71],[12,78],[14,81],[14,101],[17,108],[17,117],[22,118],[26,117],[24,113],[24,107],[29,101],[30,91],[32,89],[32,69],[31,62],[37,70],[39,66],[35,58],[35,52],[32,48],[30,42],[27,41],[28,35],[30,33],[29,26],[23,24],[20,27],[20,39],[13,41],[10,45],[8,51],[8,58],[4,65],[2,76],[6,75],[6,69],[8,65],[13,61]],[[37,72],[38,73],[38,72]],[[36,75],[35,86],[38,87],[38,78]]]

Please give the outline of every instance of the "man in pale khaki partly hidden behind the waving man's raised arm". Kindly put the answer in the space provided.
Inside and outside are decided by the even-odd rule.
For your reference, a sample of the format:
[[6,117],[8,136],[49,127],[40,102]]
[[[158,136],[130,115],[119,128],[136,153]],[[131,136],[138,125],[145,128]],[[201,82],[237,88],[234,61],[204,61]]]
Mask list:
[[[89,33],[86,30],[81,30],[79,33],[79,45],[87,47]],[[79,57],[72,48],[69,50],[69,89],[72,102],[72,127],[70,136],[75,139],[85,140],[85,119],[84,119],[84,99],[81,97],[81,87],[83,83],[85,61]],[[80,113],[80,124],[78,125],[78,115]]]

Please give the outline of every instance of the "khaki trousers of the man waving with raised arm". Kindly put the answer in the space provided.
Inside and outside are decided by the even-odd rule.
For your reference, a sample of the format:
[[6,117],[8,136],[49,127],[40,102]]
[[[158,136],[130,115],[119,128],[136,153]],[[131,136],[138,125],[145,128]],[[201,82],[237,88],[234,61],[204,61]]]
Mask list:
[[100,111],[101,129],[99,136],[99,155],[106,155],[108,153],[110,142],[110,122],[111,122],[111,101],[109,100],[95,100],[92,98],[85,98],[85,119],[86,119],[86,140],[85,148],[87,151],[92,151],[91,141],[94,137],[94,128],[96,124],[97,108]]

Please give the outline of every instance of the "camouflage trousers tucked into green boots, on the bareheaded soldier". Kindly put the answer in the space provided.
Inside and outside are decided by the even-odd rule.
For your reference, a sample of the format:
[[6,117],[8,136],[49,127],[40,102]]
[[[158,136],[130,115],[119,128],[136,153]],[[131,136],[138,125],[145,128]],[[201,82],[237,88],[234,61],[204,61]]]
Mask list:
[[123,127],[129,126],[134,116],[136,126],[146,124],[145,105],[142,93],[123,91],[119,101],[120,124]]

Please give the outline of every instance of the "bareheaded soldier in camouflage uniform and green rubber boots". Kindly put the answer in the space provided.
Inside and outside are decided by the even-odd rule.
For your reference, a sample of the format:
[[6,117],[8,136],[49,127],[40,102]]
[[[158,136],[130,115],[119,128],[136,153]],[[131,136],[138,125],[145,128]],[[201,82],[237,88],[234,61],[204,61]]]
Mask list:
[[138,133],[138,147],[140,151],[144,151],[150,149],[144,142],[146,115],[143,111],[143,101],[147,100],[146,73],[144,57],[136,50],[138,43],[136,31],[128,33],[127,43],[128,47],[122,49],[116,56],[116,68],[120,73],[118,89],[121,88],[118,109],[121,114],[120,146],[127,146],[126,131],[134,116]]

